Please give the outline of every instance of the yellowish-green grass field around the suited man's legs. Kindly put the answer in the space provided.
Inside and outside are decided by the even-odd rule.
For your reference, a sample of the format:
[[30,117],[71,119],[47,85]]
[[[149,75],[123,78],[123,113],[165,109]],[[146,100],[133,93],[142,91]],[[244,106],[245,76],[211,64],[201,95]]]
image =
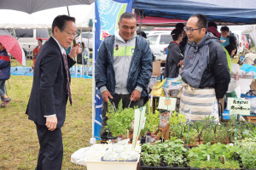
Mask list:
[[[25,114],[32,77],[11,76],[9,85],[7,82],[8,96],[12,101],[6,108],[0,108],[0,169],[35,169],[38,137],[35,124]],[[66,122],[62,127],[62,169],[86,169],[73,164],[70,156],[90,145],[91,79],[72,78],[71,88],[73,106],[67,105]]]

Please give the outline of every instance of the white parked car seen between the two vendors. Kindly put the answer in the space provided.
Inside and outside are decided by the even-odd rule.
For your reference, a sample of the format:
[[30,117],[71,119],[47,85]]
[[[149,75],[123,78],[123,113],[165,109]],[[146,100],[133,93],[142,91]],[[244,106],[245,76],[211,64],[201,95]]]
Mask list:
[[158,57],[166,56],[164,48],[168,47],[169,43],[172,42],[171,32],[168,31],[168,33],[162,32],[158,34],[149,35],[148,42],[156,59]]

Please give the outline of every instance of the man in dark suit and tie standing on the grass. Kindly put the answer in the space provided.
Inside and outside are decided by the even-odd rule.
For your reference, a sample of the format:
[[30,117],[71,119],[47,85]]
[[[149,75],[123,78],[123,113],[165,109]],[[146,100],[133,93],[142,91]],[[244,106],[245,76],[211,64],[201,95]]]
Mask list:
[[34,68],[32,92],[27,105],[28,119],[35,122],[40,150],[37,170],[61,169],[63,145],[61,127],[65,121],[67,99],[72,104],[69,68],[80,53],[79,45],[66,55],[65,48],[73,42],[75,18],[55,17],[52,37],[41,48]]

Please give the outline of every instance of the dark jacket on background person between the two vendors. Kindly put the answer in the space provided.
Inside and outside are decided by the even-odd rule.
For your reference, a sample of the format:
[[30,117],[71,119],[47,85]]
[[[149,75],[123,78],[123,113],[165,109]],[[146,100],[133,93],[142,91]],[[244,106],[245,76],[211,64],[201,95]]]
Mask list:
[[181,55],[179,45],[175,42],[170,42],[166,58],[165,78],[175,78],[178,76],[178,69],[180,66],[177,66],[177,64],[182,59],[183,57]]

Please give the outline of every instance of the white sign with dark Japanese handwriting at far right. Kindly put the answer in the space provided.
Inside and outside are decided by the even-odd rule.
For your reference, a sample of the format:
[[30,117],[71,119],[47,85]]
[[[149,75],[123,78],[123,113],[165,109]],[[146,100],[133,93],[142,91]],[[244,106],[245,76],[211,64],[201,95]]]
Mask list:
[[231,114],[250,115],[251,102],[243,98],[228,98],[228,110]]

